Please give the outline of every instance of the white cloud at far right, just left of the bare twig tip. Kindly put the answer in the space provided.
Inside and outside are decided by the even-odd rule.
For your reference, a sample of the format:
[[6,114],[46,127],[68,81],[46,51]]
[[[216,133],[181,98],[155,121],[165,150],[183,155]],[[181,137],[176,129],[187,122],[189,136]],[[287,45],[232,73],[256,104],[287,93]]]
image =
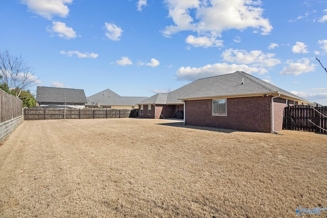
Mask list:
[[279,75],[294,75],[298,76],[305,72],[312,72],[316,69],[316,65],[310,63],[308,58],[302,58],[297,60],[296,62],[292,62],[291,60],[287,60],[288,66],[284,67],[284,69],[279,72]]

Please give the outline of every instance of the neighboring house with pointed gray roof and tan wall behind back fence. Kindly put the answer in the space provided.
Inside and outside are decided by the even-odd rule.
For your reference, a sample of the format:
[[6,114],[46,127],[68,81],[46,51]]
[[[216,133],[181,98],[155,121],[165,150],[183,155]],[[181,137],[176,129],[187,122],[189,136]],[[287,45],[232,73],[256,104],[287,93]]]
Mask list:
[[145,99],[147,99],[147,97],[120,96],[110,89],[106,89],[87,97],[86,107],[102,109],[133,109],[137,108],[138,102]]

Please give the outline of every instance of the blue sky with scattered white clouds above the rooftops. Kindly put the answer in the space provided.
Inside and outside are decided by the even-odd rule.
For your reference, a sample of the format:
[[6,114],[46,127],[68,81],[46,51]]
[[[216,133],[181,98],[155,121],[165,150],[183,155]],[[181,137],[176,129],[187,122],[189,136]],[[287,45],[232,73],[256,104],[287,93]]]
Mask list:
[[0,20],[41,86],[151,96],[242,70],[327,105],[327,1],[6,0]]

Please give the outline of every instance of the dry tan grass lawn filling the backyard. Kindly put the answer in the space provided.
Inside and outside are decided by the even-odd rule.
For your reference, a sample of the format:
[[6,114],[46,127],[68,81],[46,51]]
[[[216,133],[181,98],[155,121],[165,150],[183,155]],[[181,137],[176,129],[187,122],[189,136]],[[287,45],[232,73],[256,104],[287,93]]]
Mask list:
[[297,217],[299,206],[327,207],[327,135],[176,122],[25,121],[0,146],[0,217]]

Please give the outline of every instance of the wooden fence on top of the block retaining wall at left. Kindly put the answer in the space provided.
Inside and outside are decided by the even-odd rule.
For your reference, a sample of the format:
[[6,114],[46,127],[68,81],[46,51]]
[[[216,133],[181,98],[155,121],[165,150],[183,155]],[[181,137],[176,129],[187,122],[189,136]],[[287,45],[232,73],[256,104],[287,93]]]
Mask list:
[[0,89],[0,123],[22,115],[22,101]]

